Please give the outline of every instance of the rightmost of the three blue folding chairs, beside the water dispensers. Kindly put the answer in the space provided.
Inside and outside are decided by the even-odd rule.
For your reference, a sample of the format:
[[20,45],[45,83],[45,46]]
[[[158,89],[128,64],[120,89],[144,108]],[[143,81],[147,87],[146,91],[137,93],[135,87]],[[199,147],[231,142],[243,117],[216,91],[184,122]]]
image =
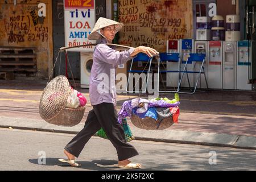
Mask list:
[[[179,85],[178,85],[178,88],[177,88],[177,92],[178,93],[184,93],[184,94],[194,94],[196,92],[196,88],[197,88],[197,84],[200,80],[200,77],[201,77],[201,74],[204,74],[204,77],[205,77],[205,82],[207,84],[207,88],[208,88],[208,82],[207,82],[207,77],[205,75],[205,71],[204,71],[204,61],[205,61],[205,54],[200,54],[200,53],[191,53],[189,54],[189,57],[186,61],[186,64],[185,64],[185,67],[183,69],[183,71],[181,71],[182,75],[181,75],[181,78],[179,80]],[[194,70],[193,71],[188,71],[187,70],[187,65],[188,64],[191,64],[193,62],[197,62],[197,63],[201,63],[201,67],[200,67],[200,70]],[[196,85],[195,85],[195,88],[192,90],[192,92],[180,92],[180,85],[181,85],[181,81],[183,80],[183,76],[184,76],[184,73],[186,74],[198,74],[199,76],[197,77],[196,79]],[[188,84],[189,84],[189,87],[190,86],[190,82],[189,82],[189,78],[188,78]]]

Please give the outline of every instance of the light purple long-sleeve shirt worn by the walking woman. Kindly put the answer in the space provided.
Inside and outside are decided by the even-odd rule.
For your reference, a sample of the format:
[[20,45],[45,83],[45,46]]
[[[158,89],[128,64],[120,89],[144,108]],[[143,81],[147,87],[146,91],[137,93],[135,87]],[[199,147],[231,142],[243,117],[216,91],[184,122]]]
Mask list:
[[131,60],[134,48],[126,51],[115,51],[113,47],[105,45],[102,38],[93,53],[93,65],[90,72],[90,103],[98,105],[104,102],[116,105],[115,67]]

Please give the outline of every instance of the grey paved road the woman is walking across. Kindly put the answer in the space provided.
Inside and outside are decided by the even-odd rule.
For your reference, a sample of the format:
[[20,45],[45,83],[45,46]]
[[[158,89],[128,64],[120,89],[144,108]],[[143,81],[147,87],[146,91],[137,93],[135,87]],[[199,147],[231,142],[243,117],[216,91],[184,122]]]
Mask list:
[[[0,129],[0,170],[117,170],[117,155],[109,140],[93,137],[77,162],[60,163],[71,134]],[[161,142],[131,142],[140,155],[132,158],[143,170],[256,170],[256,151]],[[210,153],[209,153],[210,152]],[[216,154],[216,158],[215,155]],[[46,165],[40,165],[44,162]],[[209,164],[212,163],[212,165]],[[216,163],[216,164],[215,164]]]

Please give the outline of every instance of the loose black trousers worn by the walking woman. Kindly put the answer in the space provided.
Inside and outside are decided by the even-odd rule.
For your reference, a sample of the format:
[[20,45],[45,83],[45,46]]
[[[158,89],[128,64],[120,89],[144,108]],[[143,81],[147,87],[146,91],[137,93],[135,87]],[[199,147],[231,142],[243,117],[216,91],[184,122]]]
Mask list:
[[84,129],[67,144],[65,150],[78,158],[85,144],[101,127],[117,150],[118,160],[138,155],[137,150],[126,142],[123,127],[118,123],[117,110],[110,103],[93,106],[93,110],[89,111]]

